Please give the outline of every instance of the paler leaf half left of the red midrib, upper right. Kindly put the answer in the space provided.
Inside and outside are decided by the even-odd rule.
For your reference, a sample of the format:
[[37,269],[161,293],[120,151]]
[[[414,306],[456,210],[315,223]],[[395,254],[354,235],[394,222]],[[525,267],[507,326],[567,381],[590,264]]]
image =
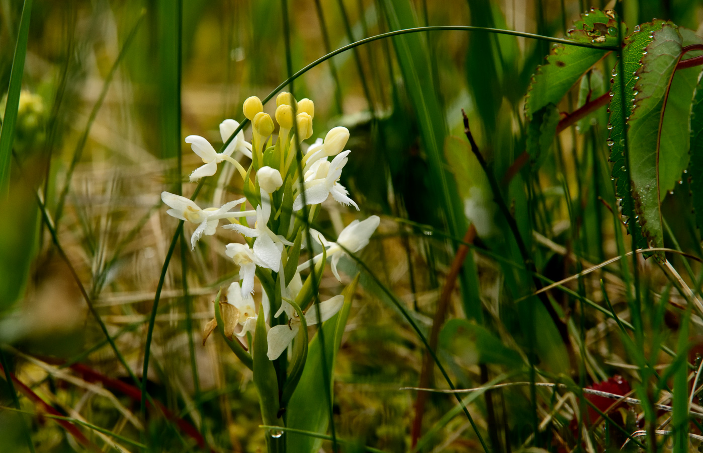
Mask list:
[[[659,161],[664,107],[669,96],[676,63],[681,58],[681,34],[676,25],[665,23],[652,32],[652,42],[643,50],[636,71],[634,106],[628,120],[632,198],[636,220],[650,247],[663,247]],[[655,254],[656,255],[656,254]]]

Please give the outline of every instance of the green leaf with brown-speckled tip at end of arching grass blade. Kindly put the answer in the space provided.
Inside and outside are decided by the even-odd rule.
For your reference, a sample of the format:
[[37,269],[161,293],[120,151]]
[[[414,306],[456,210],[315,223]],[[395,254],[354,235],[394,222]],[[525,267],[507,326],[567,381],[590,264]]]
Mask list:
[[[617,46],[618,21],[614,11],[591,9],[581,14],[574,28],[569,30],[569,39],[575,42],[591,42],[604,46]],[[525,102],[525,115],[532,115],[547,106],[556,105],[581,76],[598,63],[605,51],[587,47],[555,44],[547,56],[547,63],[537,68],[529,87]]]

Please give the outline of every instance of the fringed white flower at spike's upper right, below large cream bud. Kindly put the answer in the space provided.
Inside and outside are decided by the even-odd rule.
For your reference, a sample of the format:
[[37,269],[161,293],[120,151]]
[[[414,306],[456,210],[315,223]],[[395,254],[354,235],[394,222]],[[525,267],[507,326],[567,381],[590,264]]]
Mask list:
[[317,160],[310,169],[305,173],[304,177],[304,193],[299,193],[293,202],[293,210],[299,211],[303,207],[303,195],[307,205],[318,205],[324,200],[327,200],[328,195],[332,194],[333,198],[343,205],[353,205],[356,210],[359,206],[354,203],[352,198],[349,198],[349,192],[342,184],[339,184],[342,168],[347,164],[347,155],[352,151],[344,151],[339,153],[330,162],[326,159]]

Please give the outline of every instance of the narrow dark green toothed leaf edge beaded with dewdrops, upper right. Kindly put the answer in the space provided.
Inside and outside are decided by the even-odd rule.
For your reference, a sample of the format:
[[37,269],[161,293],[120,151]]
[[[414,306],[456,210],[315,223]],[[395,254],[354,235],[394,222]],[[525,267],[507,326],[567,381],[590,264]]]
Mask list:
[[[643,57],[643,48],[652,42],[650,34],[657,30],[662,30],[662,23],[645,23],[640,25],[635,31],[624,40],[624,48],[622,49],[623,68],[624,72],[618,75],[619,64],[616,63],[615,69],[612,72],[610,94],[610,161],[613,162],[612,177],[615,179],[615,194],[620,200],[623,217],[626,217],[628,212],[635,212],[635,206],[628,186],[628,177],[625,172],[625,155],[624,155],[624,131],[625,124],[623,117],[628,118],[632,113],[635,83],[635,72],[638,71],[642,64],[640,58]],[[617,77],[616,77],[617,76]],[[621,83],[624,83],[624,100],[621,98]],[[623,113],[622,107],[625,111]],[[629,137],[629,136],[628,136]],[[630,143],[630,152],[632,152],[632,143]],[[645,248],[647,243],[642,236],[640,224],[631,222],[625,218],[628,225],[628,230],[636,242],[637,248]]]

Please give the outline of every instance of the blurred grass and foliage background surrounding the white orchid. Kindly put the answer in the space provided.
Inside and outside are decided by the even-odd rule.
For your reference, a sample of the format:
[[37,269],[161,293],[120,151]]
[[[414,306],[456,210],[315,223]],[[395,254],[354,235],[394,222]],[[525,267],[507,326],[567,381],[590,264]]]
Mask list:
[[[598,0],[289,3],[294,70],[344,44],[399,28],[478,25],[560,37],[579,13],[612,7]],[[10,80],[22,5],[0,0],[2,90]],[[181,256],[176,248],[169,267],[147,376],[148,393],[165,412],[152,408],[146,421],[138,419],[139,400],[131,393],[136,383],[86,304],[87,298],[124,363],[141,378],[148,313],[175,227],[159,195],[178,186],[179,170],[188,174],[198,162],[183,138],[202,135],[217,148],[219,122],[242,120],[245,98],[264,98],[288,77],[280,1],[183,0],[179,12],[180,6],[174,0],[35,0],[32,6],[11,196],[0,205],[2,365],[5,378],[11,373],[18,383],[15,390],[0,385],[0,402],[13,406],[16,392],[21,409],[34,415],[0,411],[4,451],[27,449],[25,434],[37,452],[85,445],[109,451],[115,443],[137,451],[134,442],[162,452],[254,452],[264,445],[250,372],[220,338],[200,342],[214,293],[236,276],[219,253],[226,233],[198,253]],[[626,0],[623,8],[629,27],[661,18],[697,30],[703,19],[695,0]],[[503,180],[525,149],[524,96],[549,49],[548,42],[484,32],[406,34],[342,53],[295,81],[295,96],[316,103],[309,142],[336,125],[350,129],[352,154],[342,184],[365,213],[383,219],[362,255],[370,273],[362,273],[337,362],[333,409],[340,437],[386,451],[411,448],[418,394],[399,388],[418,385],[423,346],[391,299],[430,336],[470,222],[478,236],[449,293],[451,321],[438,340],[439,357],[456,385],[477,387],[506,376],[527,381],[529,369],[551,376],[548,381],[567,376],[581,386],[616,374],[638,376],[617,324],[583,305],[593,300],[607,310],[610,295],[626,317],[627,264],[572,281],[570,292],[549,293],[547,303],[567,320],[573,342],[565,340],[544,305],[522,302],[537,300],[531,276],[463,135],[461,108],[494,177]],[[614,61],[609,56],[599,63],[557,108],[573,111],[588,94],[605,92]],[[274,106],[265,110],[273,115]],[[610,179],[606,122],[602,108],[548,143],[539,167],[526,165],[501,183],[531,260],[547,281],[629,250]],[[228,183],[218,178],[200,193],[203,205],[220,203],[217,184]],[[702,256],[694,224],[678,215],[690,210],[683,183],[664,207],[667,245]],[[51,228],[42,222],[37,200],[46,206]],[[315,227],[330,237],[356,218],[336,203],[327,208]],[[670,260],[677,268],[688,266],[678,257]],[[349,260],[342,269],[353,275],[361,267]],[[676,349],[683,305],[659,302],[681,298],[653,264],[644,269],[652,333],[645,354],[652,352],[657,369],[672,360],[659,351],[662,345]],[[685,278],[698,274],[694,265]],[[321,288],[334,295],[341,286],[325,275]],[[444,385],[430,373],[427,385],[434,381]],[[569,428],[574,410],[563,409],[562,395],[540,391],[534,400],[527,388],[494,395],[470,397],[469,405],[494,451],[582,448],[581,432]],[[451,397],[428,396],[423,412],[422,451],[480,449]],[[72,422],[85,444],[43,414],[83,420],[108,434]],[[531,438],[534,420],[544,425],[537,439]],[[602,430],[592,434],[598,445],[607,445]]]

